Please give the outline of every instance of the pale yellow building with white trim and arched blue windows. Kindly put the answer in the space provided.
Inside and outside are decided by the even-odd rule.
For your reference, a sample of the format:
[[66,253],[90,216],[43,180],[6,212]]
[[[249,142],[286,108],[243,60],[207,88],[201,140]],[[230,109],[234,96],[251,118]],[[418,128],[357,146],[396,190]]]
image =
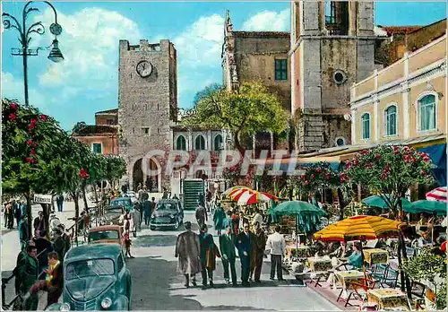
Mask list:
[[446,34],[351,87],[354,145],[447,133]]

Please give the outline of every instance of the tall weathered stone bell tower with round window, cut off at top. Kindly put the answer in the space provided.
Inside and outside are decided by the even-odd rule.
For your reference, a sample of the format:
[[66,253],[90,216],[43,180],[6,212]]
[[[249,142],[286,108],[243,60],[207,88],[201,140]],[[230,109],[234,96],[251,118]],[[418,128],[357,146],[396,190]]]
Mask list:
[[291,3],[292,114],[301,152],[350,143],[349,88],[375,70],[373,2]]

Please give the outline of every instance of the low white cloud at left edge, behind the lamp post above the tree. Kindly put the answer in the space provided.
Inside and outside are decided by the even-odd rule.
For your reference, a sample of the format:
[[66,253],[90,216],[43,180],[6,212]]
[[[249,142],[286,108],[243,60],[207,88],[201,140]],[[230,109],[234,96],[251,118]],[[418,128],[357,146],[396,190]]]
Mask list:
[[[23,80],[16,79],[11,73],[2,72],[2,99],[18,100],[19,103],[25,104]],[[45,96],[36,89],[28,90],[28,99],[30,105],[39,108],[43,113],[48,114]]]

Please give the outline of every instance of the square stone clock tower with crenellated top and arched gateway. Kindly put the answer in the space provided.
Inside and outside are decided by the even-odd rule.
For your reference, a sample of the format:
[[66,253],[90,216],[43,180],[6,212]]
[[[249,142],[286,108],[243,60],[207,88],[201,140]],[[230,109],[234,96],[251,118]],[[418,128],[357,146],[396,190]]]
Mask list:
[[[130,45],[120,40],[118,67],[118,125],[120,154],[126,160],[131,189],[149,183],[161,192],[168,183],[161,174],[147,177],[142,161],[154,150],[170,151],[170,126],[177,121],[177,56],[168,39]],[[163,159],[151,158],[149,169],[162,169]]]

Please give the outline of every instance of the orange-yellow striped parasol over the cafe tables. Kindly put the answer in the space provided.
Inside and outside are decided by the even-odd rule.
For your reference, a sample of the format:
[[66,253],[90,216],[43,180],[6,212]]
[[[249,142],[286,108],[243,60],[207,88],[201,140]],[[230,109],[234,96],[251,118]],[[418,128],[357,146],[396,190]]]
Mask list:
[[313,238],[323,241],[388,238],[398,236],[403,224],[401,221],[393,221],[383,217],[358,215],[319,230],[314,233]]

